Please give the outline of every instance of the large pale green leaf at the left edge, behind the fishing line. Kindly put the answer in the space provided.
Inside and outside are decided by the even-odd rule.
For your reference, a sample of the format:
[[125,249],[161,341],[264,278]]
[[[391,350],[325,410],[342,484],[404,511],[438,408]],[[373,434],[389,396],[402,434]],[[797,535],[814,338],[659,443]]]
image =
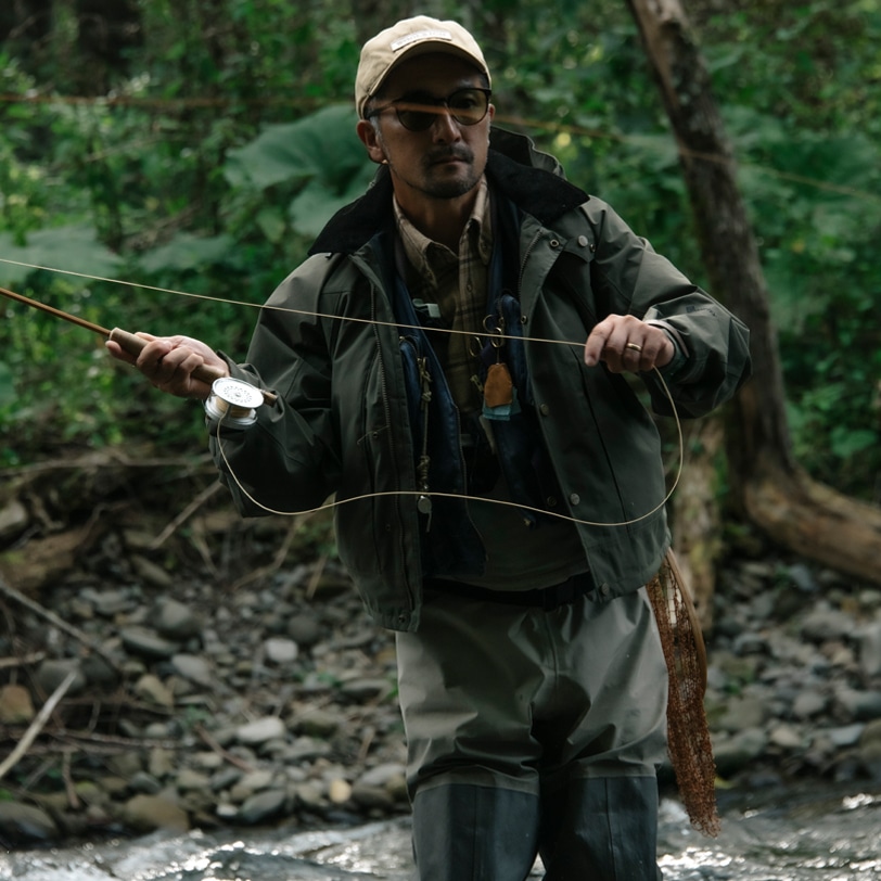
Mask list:
[[34,267],[43,267],[86,276],[111,277],[122,259],[98,241],[94,228],[88,226],[52,227],[37,230],[21,247],[9,233],[0,233],[0,280],[21,284]]

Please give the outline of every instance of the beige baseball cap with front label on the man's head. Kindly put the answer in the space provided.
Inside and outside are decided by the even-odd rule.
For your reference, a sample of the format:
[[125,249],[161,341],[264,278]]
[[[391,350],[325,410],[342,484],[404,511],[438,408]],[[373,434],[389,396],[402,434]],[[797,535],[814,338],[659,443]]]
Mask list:
[[489,79],[481,47],[460,24],[440,22],[427,15],[404,18],[381,30],[361,49],[361,60],[355,76],[355,107],[363,116],[365,104],[382,85],[385,77],[405,59],[425,52],[449,52],[472,62]]

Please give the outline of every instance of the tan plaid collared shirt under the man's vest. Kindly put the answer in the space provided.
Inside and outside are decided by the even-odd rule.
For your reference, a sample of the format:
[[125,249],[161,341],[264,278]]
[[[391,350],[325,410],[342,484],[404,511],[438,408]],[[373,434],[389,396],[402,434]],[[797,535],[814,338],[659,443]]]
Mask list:
[[[404,272],[410,296],[436,303],[444,325],[452,333],[434,334],[435,343],[456,406],[462,413],[478,410],[483,398],[472,378],[477,375],[478,359],[472,349],[473,337],[484,333],[489,258],[493,229],[489,188],[482,178],[474,208],[468,219],[459,253],[423,235],[395,202],[395,217],[404,255]],[[443,343],[446,342],[446,346]],[[444,350],[446,349],[446,350]]]

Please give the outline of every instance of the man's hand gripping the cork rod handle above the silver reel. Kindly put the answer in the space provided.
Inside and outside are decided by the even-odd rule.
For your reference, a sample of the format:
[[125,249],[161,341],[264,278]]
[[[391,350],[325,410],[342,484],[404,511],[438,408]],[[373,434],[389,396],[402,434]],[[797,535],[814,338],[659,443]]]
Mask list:
[[169,395],[205,400],[210,393],[210,383],[193,376],[193,371],[200,367],[208,368],[218,378],[229,375],[227,362],[205,343],[191,336],[135,335],[146,341],[137,356],[113,340],[105,343],[107,352],[136,367],[156,388]]

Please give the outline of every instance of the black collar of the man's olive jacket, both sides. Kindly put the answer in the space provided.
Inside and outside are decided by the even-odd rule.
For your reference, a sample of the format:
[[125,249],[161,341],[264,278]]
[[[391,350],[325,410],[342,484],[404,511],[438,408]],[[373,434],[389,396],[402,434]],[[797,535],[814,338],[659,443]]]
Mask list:
[[[489,144],[486,176],[491,190],[539,222],[550,224],[587,202],[587,193],[563,178],[557,159],[537,151],[528,138],[495,128]],[[381,166],[370,189],[328,221],[309,254],[349,254],[394,226],[392,196],[392,176]]]

